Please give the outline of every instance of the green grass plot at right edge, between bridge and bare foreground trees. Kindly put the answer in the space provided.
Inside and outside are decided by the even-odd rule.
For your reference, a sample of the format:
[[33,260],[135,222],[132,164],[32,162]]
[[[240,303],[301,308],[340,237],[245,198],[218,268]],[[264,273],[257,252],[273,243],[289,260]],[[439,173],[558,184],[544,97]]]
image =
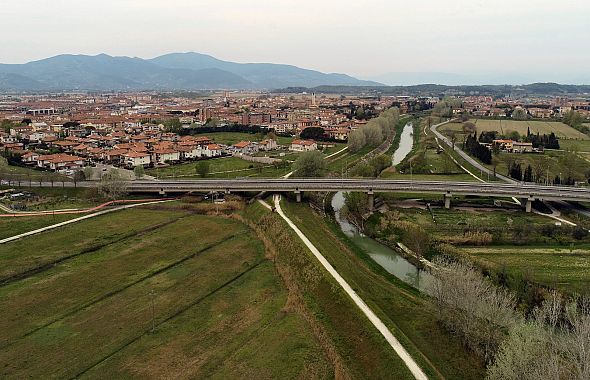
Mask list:
[[590,250],[588,247],[474,247],[462,249],[479,265],[494,271],[555,287],[568,294],[590,294]]

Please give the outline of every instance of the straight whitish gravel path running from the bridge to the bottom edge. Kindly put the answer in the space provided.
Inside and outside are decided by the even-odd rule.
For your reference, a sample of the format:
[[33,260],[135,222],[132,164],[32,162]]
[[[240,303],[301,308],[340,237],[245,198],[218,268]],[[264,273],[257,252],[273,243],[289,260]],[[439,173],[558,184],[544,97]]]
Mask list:
[[289,227],[295,231],[297,236],[305,243],[313,255],[322,264],[324,269],[330,273],[330,275],[338,282],[343,290],[350,296],[353,302],[359,307],[359,309],[365,314],[369,321],[379,330],[383,337],[387,340],[389,345],[394,349],[397,355],[404,361],[410,372],[416,379],[427,380],[428,377],[401,345],[401,343],[393,336],[391,331],[385,326],[385,324],[377,317],[377,315],[367,306],[367,304],[359,297],[359,295],[350,287],[350,285],[342,278],[342,276],[334,269],[334,267],[326,260],[321,252],[311,243],[311,241],[301,232],[301,230],[287,217],[287,215],[281,209],[280,197],[275,196],[275,208],[279,215],[287,222]]

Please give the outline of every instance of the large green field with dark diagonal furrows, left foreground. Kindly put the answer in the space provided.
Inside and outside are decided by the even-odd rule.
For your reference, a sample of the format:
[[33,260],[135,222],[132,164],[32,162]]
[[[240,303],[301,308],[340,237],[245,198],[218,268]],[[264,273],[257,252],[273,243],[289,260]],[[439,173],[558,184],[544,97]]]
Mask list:
[[333,377],[264,251],[238,221],[173,208],[2,245],[0,377]]

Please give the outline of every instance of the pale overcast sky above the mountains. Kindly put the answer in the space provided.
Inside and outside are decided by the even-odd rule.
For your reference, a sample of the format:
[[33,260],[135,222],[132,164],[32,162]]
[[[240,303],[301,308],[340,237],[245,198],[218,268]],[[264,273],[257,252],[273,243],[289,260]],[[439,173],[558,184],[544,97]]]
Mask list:
[[361,78],[383,79],[388,73],[562,82],[590,77],[587,0],[2,3],[2,63],[63,53],[151,58],[195,51]]

